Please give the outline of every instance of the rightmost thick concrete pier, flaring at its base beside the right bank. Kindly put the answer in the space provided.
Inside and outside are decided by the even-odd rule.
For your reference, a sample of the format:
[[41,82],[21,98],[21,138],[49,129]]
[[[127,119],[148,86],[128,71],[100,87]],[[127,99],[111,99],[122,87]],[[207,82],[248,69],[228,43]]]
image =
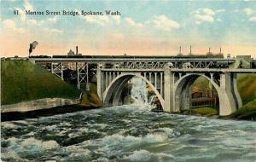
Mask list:
[[[235,76],[236,77],[236,76]],[[234,75],[230,72],[220,74],[219,89],[219,115],[230,115],[241,106],[241,99],[237,92],[235,93]],[[235,81],[236,82],[236,81]]]

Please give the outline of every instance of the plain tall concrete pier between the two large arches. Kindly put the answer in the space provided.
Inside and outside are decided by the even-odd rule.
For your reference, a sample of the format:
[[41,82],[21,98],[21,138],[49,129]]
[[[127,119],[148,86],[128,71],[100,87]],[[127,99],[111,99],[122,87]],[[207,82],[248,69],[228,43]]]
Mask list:
[[178,112],[179,110],[177,110],[175,107],[174,75],[168,68],[165,69],[164,80],[165,103],[163,109],[165,112]]

